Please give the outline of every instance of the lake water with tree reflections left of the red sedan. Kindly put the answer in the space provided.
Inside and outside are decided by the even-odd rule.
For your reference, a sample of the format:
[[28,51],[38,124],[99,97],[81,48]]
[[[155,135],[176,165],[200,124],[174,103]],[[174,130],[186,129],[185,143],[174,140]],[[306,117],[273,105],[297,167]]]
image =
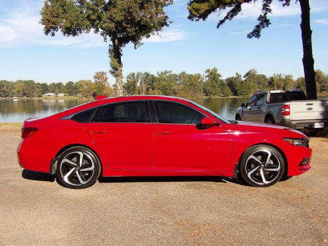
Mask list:
[[63,98],[3,99],[0,100],[0,122],[22,122],[30,117],[45,117],[85,102],[85,99]]

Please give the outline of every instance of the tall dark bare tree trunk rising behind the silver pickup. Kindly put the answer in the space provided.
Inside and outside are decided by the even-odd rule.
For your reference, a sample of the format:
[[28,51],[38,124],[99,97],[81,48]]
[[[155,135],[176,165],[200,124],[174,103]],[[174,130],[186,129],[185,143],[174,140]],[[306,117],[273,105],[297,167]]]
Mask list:
[[306,97],[309,100],[317,99],[316,73],[312,54],[312,30],[310,26],[309,0],[298,0],[301,6],[301,31],[303,44],[303,68],[305,77]]

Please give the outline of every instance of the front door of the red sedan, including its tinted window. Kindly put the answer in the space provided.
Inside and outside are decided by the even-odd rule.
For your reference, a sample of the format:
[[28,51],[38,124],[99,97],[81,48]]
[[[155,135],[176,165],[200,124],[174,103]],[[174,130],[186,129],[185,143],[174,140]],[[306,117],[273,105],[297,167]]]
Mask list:
[[154,171],[229,170],[232,140],[226,129],[200,128],[205,115],[184,104],[154,100],[150,106],[156,112]]

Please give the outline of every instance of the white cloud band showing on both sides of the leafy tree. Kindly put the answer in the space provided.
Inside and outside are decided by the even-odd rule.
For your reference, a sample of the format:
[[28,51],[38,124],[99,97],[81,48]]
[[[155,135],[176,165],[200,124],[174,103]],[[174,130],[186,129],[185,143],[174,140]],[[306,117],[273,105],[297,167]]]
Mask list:
[[[23,1],[24,2],[24,1]],[[27,1],[29,3],[29,1]],[[28,4],[23,4],[19,10],[7,14],[7,17],[0,18],[0,48],[9,48],[19,45],[54,45],[72,46],[74,48],[90,48],[104,44],[104,39],[99,34],[92,31],[75,37],[67,37],[57,32],[54,37],[45,35],[43,26],[39,24],[39,6],[32,8]],[[153,35],[144,39],[145,43],[172,42],[188,38],[189,33],[170,30],[163,31],[160,35]]]

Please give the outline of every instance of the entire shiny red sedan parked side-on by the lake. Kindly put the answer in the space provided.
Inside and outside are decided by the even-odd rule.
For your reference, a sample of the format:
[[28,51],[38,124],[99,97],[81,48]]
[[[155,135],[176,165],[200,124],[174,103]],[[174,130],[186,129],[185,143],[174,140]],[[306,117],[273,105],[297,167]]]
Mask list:
[[309,138],[275,125],[226,120],[190,100],[125,96],[31,118],[18,162],[83,189],[103,176],[226,176],[271,186],[308,171]]

